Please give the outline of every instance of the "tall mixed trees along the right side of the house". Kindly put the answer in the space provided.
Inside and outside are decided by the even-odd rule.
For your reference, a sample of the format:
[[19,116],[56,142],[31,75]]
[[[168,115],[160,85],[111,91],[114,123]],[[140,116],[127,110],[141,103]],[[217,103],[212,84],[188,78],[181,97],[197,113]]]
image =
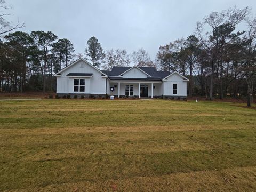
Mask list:
[[157,63],[162,70],[188,76],[190,97],[201,94],[212,100],[247,95],[247,106],[251,106],[255,56],[256,18],[248,7],[233,7],[206,15],[186,39],[160,46]]

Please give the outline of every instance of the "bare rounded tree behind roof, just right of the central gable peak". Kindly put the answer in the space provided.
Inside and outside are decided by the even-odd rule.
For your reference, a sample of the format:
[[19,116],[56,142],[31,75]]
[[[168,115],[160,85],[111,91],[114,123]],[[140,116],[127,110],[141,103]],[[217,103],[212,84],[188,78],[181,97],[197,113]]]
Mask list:
[[132,59],[135,65],[138,67],[148,67],[152,63],[148,53],[142,48],[138,51],[132,52]]

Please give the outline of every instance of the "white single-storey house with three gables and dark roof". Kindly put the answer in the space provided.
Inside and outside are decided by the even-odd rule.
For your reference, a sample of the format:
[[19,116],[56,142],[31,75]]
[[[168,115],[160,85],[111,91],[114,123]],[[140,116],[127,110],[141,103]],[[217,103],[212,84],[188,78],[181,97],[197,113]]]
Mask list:
[[187,97],[186,77],[154,67],[113,67],[99,70],[78,59],[54,75],[58,95],[115,95],[116,97]]

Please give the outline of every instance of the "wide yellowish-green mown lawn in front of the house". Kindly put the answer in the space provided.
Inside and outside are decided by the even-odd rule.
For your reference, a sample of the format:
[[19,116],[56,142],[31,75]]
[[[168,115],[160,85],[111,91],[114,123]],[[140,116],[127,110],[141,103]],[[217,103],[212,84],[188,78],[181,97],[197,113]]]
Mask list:
[[0,101],[0,191],[256,191],[245,105]]

